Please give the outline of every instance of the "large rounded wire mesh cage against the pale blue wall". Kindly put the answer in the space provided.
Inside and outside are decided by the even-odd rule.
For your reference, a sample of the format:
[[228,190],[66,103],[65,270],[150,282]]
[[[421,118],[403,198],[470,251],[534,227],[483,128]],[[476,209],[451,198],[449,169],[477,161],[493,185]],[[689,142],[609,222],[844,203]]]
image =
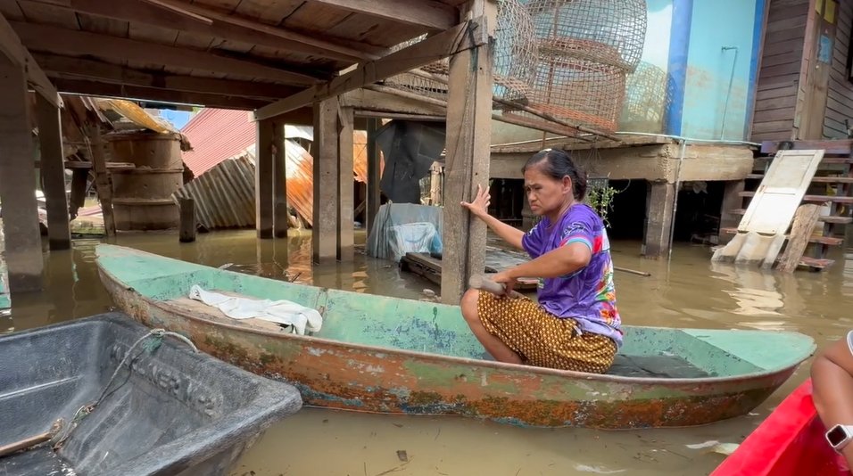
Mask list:
[[[625,75],[640,62],[644,0],[532,0],[536,65],[526,105],[578,126],[616,130]],[[504,111],[541,122],[524,111]]]

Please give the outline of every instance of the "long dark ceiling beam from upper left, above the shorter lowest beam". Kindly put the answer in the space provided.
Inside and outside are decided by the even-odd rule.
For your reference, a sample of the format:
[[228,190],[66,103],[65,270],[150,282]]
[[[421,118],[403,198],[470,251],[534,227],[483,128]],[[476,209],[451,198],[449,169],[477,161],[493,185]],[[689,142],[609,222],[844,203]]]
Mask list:
[[264,64],[219,56],[200,50],[157,45],[128,38],[98,35],[87,31],[62,29],[12,21],[12,28],[31,50],[66,55],[94,55],[131,62],[147,62],[177,68],[265,78],[294,85],[310,85],[317,78],[273,68]]

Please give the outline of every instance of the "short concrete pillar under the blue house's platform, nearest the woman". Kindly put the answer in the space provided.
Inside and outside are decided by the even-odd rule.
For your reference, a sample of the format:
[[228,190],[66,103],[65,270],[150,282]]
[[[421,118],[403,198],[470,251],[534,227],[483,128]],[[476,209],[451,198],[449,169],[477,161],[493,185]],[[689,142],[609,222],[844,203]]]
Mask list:
[[669,252],[669,236],[673,226],[675,185],[648,182],[646,188],[646,223],[642,240],[642,256],[658,259]]

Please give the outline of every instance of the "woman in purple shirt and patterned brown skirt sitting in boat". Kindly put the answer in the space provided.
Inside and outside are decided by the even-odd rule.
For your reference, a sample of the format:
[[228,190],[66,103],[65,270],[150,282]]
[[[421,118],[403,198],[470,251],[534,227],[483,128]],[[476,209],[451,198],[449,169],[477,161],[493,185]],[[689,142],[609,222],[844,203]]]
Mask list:
[[[490,196],[479,185],[474,201],[461,203],[532,259],[492,276],[505,296],[468,290],[462,316],[498,361],[605,373],[622,331],[607,232],[582,203],[586,175],[568,152],[552,149],[534,154],[523,172],[530,209],[542,217],[528,233],[489,215]],[[509,297],[519,277],[540,278],[538,304]]]

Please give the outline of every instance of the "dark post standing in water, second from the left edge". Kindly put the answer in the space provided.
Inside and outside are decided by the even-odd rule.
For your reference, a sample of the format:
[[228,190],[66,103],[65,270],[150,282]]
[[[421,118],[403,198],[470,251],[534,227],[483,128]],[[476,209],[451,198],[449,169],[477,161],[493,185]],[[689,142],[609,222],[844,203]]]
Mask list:
[[47,238],[51,250],[68,250],[71,247],[71,229],[68,223],[68,196],[65,194],[65,160],[59,108],[41,94],[36,94],[36,115],[41,174],[47,202]]

